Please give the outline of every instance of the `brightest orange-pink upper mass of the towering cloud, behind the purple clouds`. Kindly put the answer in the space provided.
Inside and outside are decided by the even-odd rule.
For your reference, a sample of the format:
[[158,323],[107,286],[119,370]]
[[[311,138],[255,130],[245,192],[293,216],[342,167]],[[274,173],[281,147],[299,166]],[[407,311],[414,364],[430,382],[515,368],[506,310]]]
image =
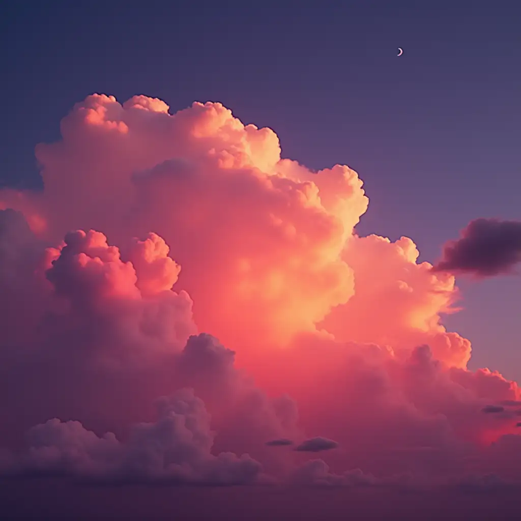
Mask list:
[[54,241],[71,228],[103,231],[121,246],[158,234],[182,266],[199,329],[237,351],[256,378],[259,351],[322,326],[342,341],[428,343],[450,365],[466,365],[470,343],[440,324],[457,296],[454,278],[417,264],[411,239],[353,234],[368,204],[355,171],[313,172],[281,158],[272,130],[244,126],[219,103],[170,115],[151,100],[88,96],[62,121],[62,139],[36,148],[44,193],[0,201],[38,213]]

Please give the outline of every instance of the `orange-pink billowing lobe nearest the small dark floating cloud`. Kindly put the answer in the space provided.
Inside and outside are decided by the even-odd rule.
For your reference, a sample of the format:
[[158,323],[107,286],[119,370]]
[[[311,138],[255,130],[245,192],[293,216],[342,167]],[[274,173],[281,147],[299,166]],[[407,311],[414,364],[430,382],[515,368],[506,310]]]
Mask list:
[[444,363],[466,367],[470,342],[441,324],[442,314],[455,312],[454,277],[444,272],[433,275],[431,264],[417,264],[418,255],[406,237],[391,242],[378,235],[354,235],[342,258],[354,271],[356,291],[348,302],[332,309],[322,326],[345,342],[408,351],[428,344]]

